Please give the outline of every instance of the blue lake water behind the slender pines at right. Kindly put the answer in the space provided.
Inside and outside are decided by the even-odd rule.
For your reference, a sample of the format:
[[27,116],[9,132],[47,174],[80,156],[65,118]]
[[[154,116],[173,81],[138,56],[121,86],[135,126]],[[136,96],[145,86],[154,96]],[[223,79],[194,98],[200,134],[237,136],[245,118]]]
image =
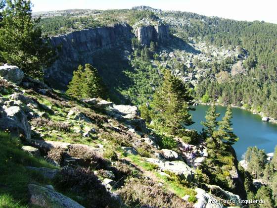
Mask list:
[[[192,120],[195,123],[189,126],[189,129],[200,132],[202,130],[200,122],[205,121],[205,113],[209,106],[197,105],[195,108],[195,111],[191,111]],[[216,108],[217,112],[221,114],[218,120],[221,120],[226,112],[226,107],[217,106]],[[262,122],[261,116],[240,108],[232,108],[232,112],[233,132],[239,137],[239,141],[233,145],[238,160],[241,160],[241,156],[247,148],[252,146],[264,149],[266,153],[274,152],[277,145],[277,124]]]

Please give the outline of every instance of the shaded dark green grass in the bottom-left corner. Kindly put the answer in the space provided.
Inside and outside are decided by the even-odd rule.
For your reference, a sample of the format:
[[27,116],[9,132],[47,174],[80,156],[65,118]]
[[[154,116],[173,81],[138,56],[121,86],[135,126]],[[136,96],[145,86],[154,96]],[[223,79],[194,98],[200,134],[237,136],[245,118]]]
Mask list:
[[36,171],[25,166],[57,168],[43,158],[30,156],[21,150],[19,139],[0,132],[0,207],[24,208],[28,199],[28,184],[51,184]]

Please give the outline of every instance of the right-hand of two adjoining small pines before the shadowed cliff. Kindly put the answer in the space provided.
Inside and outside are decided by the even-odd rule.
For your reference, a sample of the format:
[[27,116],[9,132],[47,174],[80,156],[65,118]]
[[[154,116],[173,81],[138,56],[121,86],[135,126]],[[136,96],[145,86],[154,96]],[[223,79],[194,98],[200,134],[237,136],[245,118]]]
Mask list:
[[83,98],[103,98],[105,96],[102,79],[98,75],[97,69],[92,67],[91,64],[87,63],[85,65],[85,71],[82,74],[81,79],[83,81]]

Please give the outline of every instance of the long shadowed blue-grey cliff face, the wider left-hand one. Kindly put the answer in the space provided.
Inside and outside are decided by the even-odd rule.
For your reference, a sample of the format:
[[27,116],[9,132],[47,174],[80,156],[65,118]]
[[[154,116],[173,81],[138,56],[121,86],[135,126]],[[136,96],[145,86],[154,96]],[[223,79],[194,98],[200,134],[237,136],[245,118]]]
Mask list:
[[52,46],[61,47],[61,50],[55,63],[45,69],[45,80],[52,87],[66,89],[79,64],[93,63],[93,53],[120,46],[123,40],[131,39],[131,29],[122,23],[51,37]]

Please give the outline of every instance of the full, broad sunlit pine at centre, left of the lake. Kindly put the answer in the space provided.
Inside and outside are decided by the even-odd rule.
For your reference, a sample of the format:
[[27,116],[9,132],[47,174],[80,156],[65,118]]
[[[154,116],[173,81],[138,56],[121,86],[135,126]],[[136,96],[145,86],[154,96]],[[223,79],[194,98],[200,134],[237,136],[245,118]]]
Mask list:
[[192,99],[182,81],[166,70],[162,86],[153,95],[155,118],[159,119],[171,134],[182,132],[185,126],[193,123],[189,114]]

